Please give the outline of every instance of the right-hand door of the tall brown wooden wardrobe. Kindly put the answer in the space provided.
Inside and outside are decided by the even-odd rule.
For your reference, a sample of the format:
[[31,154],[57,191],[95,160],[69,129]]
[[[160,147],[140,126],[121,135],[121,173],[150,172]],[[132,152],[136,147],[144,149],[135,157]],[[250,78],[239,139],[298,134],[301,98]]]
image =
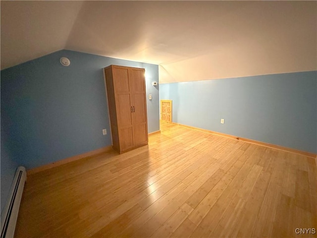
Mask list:
[[145,91],[145,70],[143,68],[130,68],[129,78],[132,91],[132,124],[134,146],[148,143],[147,105]]

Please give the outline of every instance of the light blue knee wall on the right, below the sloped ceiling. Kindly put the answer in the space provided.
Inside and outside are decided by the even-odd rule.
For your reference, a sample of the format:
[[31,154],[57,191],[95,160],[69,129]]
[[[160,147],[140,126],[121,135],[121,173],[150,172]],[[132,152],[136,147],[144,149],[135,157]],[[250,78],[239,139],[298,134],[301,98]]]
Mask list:
[[159,97],[174,122],[317,153],[317,71],[160,84]]

